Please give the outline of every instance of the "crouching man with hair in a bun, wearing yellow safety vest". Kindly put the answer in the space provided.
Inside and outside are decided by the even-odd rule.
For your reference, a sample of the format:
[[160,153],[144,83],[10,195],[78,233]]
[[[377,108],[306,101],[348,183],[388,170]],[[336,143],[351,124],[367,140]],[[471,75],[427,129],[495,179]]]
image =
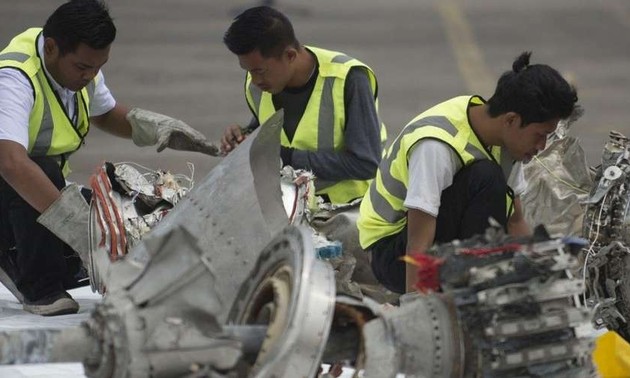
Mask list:
[[523,53],[486,102],[455,97],[414,118],[380,163],[361,203],[360,243],[388,289],[413,290],[415,268],[401,261],[434,242],[483,233],[494,218],[510,234],[529,233],[519,194],[521,163],[545,148],[568,117],[576,91],[553,68]]

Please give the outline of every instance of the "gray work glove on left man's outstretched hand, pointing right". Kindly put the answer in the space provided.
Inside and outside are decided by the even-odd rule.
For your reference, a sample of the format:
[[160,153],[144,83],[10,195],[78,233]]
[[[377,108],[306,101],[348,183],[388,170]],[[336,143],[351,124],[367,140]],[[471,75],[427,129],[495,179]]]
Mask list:
[[201,152],[219,156],[219,147],[206,140],[199,131],[186,123],[149,110],[133,108],[127,113],[131,124],[131,139],[136,146],[158,145],[160,152],[166,147],[173,150]]

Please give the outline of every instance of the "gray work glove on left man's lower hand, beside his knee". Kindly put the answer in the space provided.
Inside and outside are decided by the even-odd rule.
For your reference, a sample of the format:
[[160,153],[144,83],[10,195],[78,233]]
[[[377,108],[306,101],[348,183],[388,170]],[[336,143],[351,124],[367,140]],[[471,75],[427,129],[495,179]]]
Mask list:
[[70,184],[61,190],[61,197],[48,206],[37,222],[74,249],[87,267],[89,219],[90,206],[77,184]]

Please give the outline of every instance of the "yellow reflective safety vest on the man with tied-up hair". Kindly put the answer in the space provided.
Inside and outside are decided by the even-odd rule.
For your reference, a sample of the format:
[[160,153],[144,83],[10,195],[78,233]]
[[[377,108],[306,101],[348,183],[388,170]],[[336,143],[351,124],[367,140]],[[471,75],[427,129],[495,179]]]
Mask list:
[[[400,232],[407,224],[407,209],[403,203],[409,183],[409,152],[420,140],[432,138],[447,143],[457,152],[462,166],[476,160],[492,159],[501,164],[506,180],[514,165],[507,153],[494,146],[486,150],[468,122],[468,108],[482,105],[478,96],[461,96],[445,101],[414,118],[387,150],[376,178],[370,185],[357,221],[361,247],[369,248],[382,238]],[[502,159],[503,158],[503,159]],[[512,210],[512,195],[506,195],[508,216]]]

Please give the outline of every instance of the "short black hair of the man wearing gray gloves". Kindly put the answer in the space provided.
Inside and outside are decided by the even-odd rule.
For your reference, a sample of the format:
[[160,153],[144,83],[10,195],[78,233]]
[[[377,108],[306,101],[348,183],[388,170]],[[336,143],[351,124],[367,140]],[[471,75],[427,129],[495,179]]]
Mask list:
[[81,43],[101,50],[116,38],[116,27],[102,1],[70,0],[48,17],[44,37],[55,40],[61,55],[76,51]]

